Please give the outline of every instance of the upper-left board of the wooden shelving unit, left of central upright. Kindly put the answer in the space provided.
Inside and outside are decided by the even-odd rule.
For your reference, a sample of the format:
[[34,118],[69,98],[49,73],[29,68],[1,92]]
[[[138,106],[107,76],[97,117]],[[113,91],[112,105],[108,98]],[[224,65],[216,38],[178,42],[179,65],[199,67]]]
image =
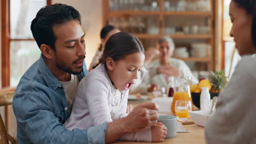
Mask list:
[[159,11],[110,11],[109,16],[116,15],[159,15]]

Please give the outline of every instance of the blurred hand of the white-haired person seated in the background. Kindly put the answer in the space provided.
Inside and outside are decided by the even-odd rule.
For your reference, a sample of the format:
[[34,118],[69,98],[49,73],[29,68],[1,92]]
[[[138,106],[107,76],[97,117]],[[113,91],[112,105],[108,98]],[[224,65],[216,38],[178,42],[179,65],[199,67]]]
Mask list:
[[179,76],[179,70],[172,65],[160,65],[158,74],[166,74],[168,76]]

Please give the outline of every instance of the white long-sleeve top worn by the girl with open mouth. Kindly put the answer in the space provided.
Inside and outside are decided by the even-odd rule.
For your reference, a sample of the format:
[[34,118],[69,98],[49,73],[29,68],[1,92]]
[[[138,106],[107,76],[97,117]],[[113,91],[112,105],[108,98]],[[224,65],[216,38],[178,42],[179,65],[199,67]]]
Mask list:
[[[127,116],[129,90],[120,92],[110,81],[104,65],[100,64],[78,85],[71,116],[65,122],[69,130],[86,129]],[[124,135],[120,140],[151,141],[150,127]]]

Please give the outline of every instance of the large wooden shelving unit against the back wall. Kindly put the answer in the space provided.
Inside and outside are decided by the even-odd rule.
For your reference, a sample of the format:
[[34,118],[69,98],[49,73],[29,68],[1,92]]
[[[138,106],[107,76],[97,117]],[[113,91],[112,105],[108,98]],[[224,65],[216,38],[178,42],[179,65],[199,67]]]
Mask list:
[[[177,1],[181,1],[181,0],[177,0]],[[125,19],[129,19],[130,16],[142,16],[142,17],[145,17],[146,19],[145,24],[147,29],[150,27],[148,26],[147,18],[157,17],[157,20],[154,20],[152,22],[154,22],[158,27],[159,33],[156,33],[156,34],[133,33],[133,35],[135,35],[137,38],[143,41],[143,45],[145,47],[152,45],[153,43],[155,43],[155,41],[153,40],[160,39],[165,35],[169,35],[172,39],[174,39],[174,41],[177,41],[177,43],[181,45],[183,45],[182,43],[184,43],[184,45],[189,45],[191,43],[195,43],[194,41],[202,41],[201,43],[209,44],[212,47],[211,48],[212,53],[211,53],[211,56],[209,57],[206,57],[206,58],[205,57],[188,57],[188,58],[177,57],[177,58],[182,59],[183,61],[186,61],[186,62],[196,62],[197,64],[195,65],[195,67],[199,69],[207,67],[206,69],[208,70],[214,70],[215,68],[214,66],[216,64],[215,62],[216,53],[214,54],[215,47],[216,47],[216,45],[214,45],[215,44],[214,35],[216,35],[215,26],[214,26],[214,23],[215,23],[214,17],[216,17],[216,7],[217,7],[215,4],[215,1],[210,0],[210,5],[209,5],[211,8],[210,11],[200,11],[200,9],[198,11],[165,11],[165,7],[164,7],[165,0],[158,0],[159,9],[157,11],[149,11],[149,10],[148,11],[143,11],[143,10],[132,11],[132,10],[121,10],[121,9],[111,10],[109,5],[110,0],[102,0],[102,2],[104,5],[103,7],[104,24],[103,25],[106,25],[107,23],[112,22],[112,17],[117,17],[117,19],[120,19],[121,17],[124,17]],[[120,7],[118,6],[118,8],[121,8],[121,5]],[[176,19],[177,17],[179,19]],[[191,20],[190,17],[193,19]],[[211,31],[208,34],[183,34],[182,32],[178,34],[165,34],[166,32],[165,24],[167,24],[166,22],[167,19],[171,19],[172,21],[177,21],[178,26],[183,26],[185,25],[183,23],[188,23],[189,27],[193,25],[199,25],[199,24],[193,24],[193,22],[190,23],[189,21],[188,22],[185,22],[185,21],[190,20],[190,21],[196,22],[198,19],[200,21],[199,23],[202,23],[202,22],[205,23],[204,25],[210,27]],[[127,24],[129,25],[129,23]],[[173,23],[173,26],[176,26],[176,23]],[[118,25],[118,27],[122,29],[120,25]],[[205,63],[207,63],[207,66]]]

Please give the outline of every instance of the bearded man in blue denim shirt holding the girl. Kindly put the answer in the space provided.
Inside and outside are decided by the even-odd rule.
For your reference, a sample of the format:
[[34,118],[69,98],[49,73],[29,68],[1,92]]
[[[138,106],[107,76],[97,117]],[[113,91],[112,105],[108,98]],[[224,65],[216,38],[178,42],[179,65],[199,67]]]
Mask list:
[[109,143],[154,125],[158,106],[145,103],[125,118],[89,129],[65,129],[79,81],[88,74],[80,14],[54,4],[40,9],[31,31],[42,55],[21,77],[13,109],[22,143]]

